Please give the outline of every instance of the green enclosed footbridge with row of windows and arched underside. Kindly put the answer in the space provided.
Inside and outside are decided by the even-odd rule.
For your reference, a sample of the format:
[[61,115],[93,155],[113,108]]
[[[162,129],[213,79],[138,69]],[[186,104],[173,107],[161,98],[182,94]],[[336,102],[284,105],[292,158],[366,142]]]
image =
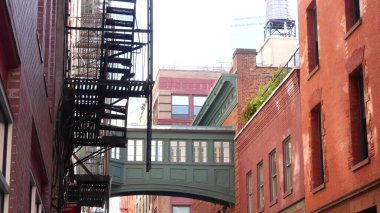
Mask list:
[[221,127],[154,126],[152,167],[145,171],[146,129],[128,128],[126,148],[110,152],[111,196],[182,196],[235,202],[234,130]]

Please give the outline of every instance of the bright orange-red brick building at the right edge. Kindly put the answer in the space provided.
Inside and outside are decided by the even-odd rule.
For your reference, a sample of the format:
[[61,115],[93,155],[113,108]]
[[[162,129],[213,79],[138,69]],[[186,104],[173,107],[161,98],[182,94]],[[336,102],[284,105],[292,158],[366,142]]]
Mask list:
[[307,212],[380,211],[380,1],[299,1]]

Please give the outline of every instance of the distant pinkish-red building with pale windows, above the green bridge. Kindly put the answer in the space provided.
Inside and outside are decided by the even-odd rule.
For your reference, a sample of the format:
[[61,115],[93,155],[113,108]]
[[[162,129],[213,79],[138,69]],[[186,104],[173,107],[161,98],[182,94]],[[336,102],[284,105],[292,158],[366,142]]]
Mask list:
[[153,123],[190,125],[221,71],[161,69],[153,88]]

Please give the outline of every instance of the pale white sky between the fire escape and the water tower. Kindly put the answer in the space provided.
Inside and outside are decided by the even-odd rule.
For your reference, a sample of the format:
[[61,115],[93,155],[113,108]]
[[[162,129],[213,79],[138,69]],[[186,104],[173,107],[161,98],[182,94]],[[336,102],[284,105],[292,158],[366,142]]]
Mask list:
[[[289,2],[291,18],[296,19],[297,0]],[[263,30],[236,36],[231,25],[236,18],[265,16],[265,5],[265,0],[154,0],[154,78],[165,67],[228,69],[235,48],[258,50],[264,41]],[[131,105],[138,107],[130,107],[130,123],[138,121],[143,102],[131,99]]]

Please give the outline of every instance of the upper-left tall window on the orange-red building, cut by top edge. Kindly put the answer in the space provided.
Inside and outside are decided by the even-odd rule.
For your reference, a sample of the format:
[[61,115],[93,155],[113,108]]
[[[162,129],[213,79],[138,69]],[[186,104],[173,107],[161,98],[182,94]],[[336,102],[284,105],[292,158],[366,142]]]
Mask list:
[[307,36],[309,71],[311,72],[319,65],[318,22],[315,0],[313,0],[307,8]]

